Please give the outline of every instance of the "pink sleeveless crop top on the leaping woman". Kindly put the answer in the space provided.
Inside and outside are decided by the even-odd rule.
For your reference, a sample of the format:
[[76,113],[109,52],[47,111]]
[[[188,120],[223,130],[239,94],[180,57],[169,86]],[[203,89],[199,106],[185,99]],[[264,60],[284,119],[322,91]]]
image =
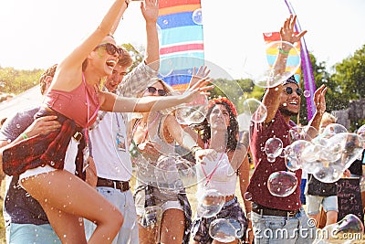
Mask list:
[[85,82],[83,74],[82,80],[71,91],[49,90],[44,102],[52,110],[75,121],[78,126],[87,128],[96,121],[100,104],[97,91]]

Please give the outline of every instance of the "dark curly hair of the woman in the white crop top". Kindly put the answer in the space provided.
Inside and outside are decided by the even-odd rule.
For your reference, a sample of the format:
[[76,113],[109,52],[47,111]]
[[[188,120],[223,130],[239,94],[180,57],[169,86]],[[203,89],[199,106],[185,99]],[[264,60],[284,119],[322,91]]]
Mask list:
[[[218,104],[224,105],[226,110],[229,113],[229,125],[227,128],[227,149],[235,150],[238,145],[238,121],[237,121],[237,111],[235,110],[235,105],[232,101],[229,101],[227,98],[216,98],[208,101],[208,110],[206,113],[206,118],[209,118],[212,113],[214,107]],[[193,129],[197,130],[201,135],[204,143],[207,143],[209,139],[211,139],[211,128],[208,123],[208,120],[205,120],[199,124],[192,124]]]

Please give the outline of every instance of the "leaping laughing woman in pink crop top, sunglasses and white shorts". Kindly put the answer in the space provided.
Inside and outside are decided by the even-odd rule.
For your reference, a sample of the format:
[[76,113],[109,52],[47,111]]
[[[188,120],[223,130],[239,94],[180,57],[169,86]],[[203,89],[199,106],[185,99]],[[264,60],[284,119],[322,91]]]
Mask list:
[[[82,136],[82,131],[88,131],[98,111],[159,111],[189,102],[194,95],[210,89],[203,87],[209,82],[203,79],[183,95],[139,100],[99,90],[100,81],[112,73],[120,57],[120,49],[110,33],[118,26],[128,4],[129,0],[115,0],[99,26],[59,62],[43,108],[37,112],[38,117],[57,115],[62,123],[57,133],[31,138],[23,134],[22,142],[3,148],[0,154],[5,173],[20,175],[21,186],[42,205],[63,243],[87,243],[82,217],[98,225],[89,243],[111,243],[123,223],[120,211],[109,201],[74,172],[63,170],[67,164],[74,164],[82,140],[87,144],[87,162],[89,136]],[[17,158],[5,153],[11,150],[15,150]],[[29,162],[23,164],[25,158]]]

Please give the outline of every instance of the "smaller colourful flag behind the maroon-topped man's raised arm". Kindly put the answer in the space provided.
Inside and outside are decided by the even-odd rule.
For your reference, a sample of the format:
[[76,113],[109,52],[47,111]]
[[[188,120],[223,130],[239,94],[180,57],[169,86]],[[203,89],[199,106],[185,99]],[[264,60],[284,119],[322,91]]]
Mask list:
[[[273,41],[280,41],[281,40],[280,33],[279,32],[264,33],[264,40],[266,44],[269,44],[270,42]],[[289,55],[287,57],[287,69],[293,69],[293,67],[297,67],[297,64],[300,62],[300,41],[297,42],[296,48],[297,48],[297,53],[294,50],[291,50],[289,52]],[[277,52],[278,50],[274,46],[266,49],[267,63],[269,64],[270,68],[272,68],[272,66],[275,63]],[[300,80],[300,72],[301,70],[297,69],[294,75],[298,84]]]

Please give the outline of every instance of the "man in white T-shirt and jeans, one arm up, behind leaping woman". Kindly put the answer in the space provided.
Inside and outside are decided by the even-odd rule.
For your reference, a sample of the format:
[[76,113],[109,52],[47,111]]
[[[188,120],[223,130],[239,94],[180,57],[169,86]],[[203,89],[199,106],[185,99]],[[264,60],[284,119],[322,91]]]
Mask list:
[[[146,21],[147,48],[144,61],[127,74],[132,65],[130,54],[123,48],[115,49],[105,45],[107,52],[119,52],[120,59],[106,80],[104,89],[125,97],[136,97],[146,90],[149,83],[158,76],[160,50],[157,35],[158,0],[146,0],[141,3],[141,13]],[[156,92],[156,90],[154,90]],[[161,92],[161,91],[158,91]],[[129,134],[127,113],[99,111],[97,122],[89,131],[92,154],[96,171],[87,169],[87,180],[94,182],[97,190],[118,207],[124,216],[123,226],[113,240],[113,244],[139,243],[139,229],[136,207],[130,191],[131,160],[129,152]],[[87,239],[96,225],[85,220]]]

